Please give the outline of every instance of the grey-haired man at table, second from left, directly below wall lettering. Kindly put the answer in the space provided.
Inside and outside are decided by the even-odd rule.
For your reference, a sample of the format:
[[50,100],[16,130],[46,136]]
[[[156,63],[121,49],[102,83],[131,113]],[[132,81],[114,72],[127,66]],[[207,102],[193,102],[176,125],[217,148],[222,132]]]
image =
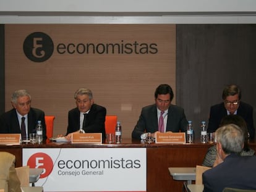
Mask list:
[[69,111],[67,140],[70,140],[71,133],[102,133],[104,140],[106,108],[94,104],[92,91],[87,88],[75,91],[74,98],[77,107]]

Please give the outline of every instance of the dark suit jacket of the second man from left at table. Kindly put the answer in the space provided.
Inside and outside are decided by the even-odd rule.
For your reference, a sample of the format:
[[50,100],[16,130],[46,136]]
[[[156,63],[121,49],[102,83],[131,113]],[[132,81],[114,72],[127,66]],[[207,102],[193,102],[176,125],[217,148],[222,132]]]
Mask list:
[[[85,133],[102,133],[103,139],[105,132],[106,108],[93,104],[85,121]],[[67,134],[80,129],[80,112],[76,107],[69,111],[69,125],[67,125]]]

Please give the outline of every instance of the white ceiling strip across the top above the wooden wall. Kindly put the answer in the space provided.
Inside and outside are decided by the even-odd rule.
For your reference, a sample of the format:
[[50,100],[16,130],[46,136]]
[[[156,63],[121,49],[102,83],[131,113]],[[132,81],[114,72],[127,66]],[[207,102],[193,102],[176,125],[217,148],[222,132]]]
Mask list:
[[0,23],[256,23],[256,1],[0,0]]

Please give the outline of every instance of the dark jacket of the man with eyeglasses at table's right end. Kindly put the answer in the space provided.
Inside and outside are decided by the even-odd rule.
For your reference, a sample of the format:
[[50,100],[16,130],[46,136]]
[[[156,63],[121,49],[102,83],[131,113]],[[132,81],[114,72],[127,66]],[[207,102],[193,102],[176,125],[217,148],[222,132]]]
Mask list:
[[[224,107],[224,102],[216,104],[215,106],[211,106],[207,131],[209,133],[215,132],[217,128],[220,127],[221,119],[223,119],[223,117],[225,117],[226,115],[227,111],[226,108]],[[237,115],[244,118],[245,122],[247,123],[250,138],[254,138],[255,130],[252,106],[241,101],[237,109]]]

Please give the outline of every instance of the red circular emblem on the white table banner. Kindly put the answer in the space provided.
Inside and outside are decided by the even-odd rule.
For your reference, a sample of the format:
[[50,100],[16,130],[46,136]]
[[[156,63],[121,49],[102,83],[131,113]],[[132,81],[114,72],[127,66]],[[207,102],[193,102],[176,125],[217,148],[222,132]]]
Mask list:
[[44,152],[37,152],[30,156],[27,165],[30,168],[42,168],[43,173],[41,173],[40,178],[48,177],[53,170],[53,160]]

